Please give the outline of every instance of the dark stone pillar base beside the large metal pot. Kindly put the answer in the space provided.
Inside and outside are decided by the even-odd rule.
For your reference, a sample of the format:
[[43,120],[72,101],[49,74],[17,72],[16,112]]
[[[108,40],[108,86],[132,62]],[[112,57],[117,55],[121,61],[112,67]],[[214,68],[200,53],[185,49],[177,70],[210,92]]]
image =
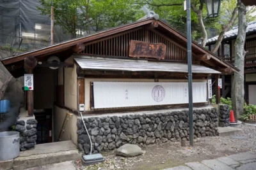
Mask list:
[[35,116],[28,117],[26,115],[17,120],[15,130],[20,132],[20,151],[34,148],[36,145],[36,125]]

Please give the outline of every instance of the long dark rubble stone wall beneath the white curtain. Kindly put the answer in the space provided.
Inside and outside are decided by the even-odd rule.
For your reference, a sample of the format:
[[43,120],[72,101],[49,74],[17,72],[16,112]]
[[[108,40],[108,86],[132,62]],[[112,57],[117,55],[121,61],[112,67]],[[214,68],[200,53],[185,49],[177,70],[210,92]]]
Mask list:
[[[132,114],[112,117],[84,118],[92,138],[92,153],[118,148],[125,143],[151,145],[167,141],[189,140],[188,110],[159,111],[147,115]],[[195,109],[195,138],[218,136],[218,113],[216,108]],[[90,141],[81,118],[77,120],[79,149],[88,154]]]

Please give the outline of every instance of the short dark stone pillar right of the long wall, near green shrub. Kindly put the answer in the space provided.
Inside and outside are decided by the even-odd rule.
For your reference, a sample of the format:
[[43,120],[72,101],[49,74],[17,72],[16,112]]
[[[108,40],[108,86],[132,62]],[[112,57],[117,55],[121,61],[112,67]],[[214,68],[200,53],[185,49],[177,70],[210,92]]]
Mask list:
[[220,104],[220,127],[227,127],[230,125],[230,110],[227,104]]

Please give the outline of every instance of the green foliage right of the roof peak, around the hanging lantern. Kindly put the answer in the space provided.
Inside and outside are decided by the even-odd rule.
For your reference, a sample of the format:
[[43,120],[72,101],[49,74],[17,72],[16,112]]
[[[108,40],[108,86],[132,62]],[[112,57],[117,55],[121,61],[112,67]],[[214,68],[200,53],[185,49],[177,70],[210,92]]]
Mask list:
[[[204,0],[192,0],[191,4],[193,4],[196,9],[199,9],[200,1]],[[186,11],[184,11],[184,0],[137,0],[140,4],[147,4],[150,10],[154,10],[159,14],[160,18],[165,20],[168,24],[172,25],[179,32],[186,34]],[[232,17],[232,12],[236,8],[237,0],[225,0],[221,1],[220,6],[220,17],[216,18],[208,18],[206,5],[204,4],[202,8],[202,16],[205,29],[207,30],[207,34],[212,32],[212,29],[216,30],[216,33],[220,33],[222,31],[223,25],[227,25],[230,18]],[[255,6],[251,7],[246,13],[248,22],[255,20],[255,17],[252,17],[252,13],[255,11]],[[234,26],[237,25],[238,18],[236,17],[236,21],[234,22]],[[202,31],[198,25],[198,15],[195,13],[193,8],[191,8],[191,32],[192,38],[194,40],[200,39],[202,37]],[[231,27],[232,28],[232,27]],[[230,28],[230,29],[231,29]]]

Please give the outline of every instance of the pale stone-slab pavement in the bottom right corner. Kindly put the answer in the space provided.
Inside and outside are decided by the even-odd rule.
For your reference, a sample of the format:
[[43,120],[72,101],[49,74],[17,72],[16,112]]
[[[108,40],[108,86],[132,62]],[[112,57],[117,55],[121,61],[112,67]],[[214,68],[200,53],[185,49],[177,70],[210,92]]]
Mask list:
[[218,159],[189,162],[186,166],[177,166],[163,170],[255,170],[256,152],[244,152]]

